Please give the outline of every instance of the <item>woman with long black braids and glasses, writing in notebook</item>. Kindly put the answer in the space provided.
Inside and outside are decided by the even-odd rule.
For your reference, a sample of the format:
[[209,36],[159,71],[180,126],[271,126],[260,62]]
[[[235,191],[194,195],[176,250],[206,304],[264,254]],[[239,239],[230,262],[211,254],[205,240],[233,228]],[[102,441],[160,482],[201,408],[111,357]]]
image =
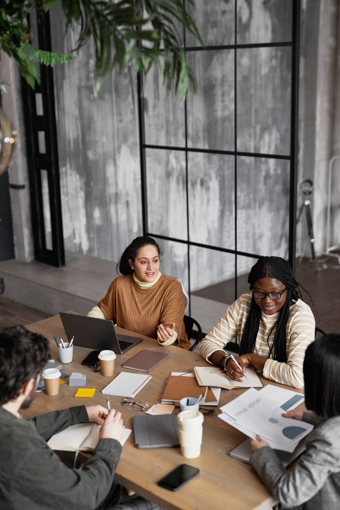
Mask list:
[[[200,352],[233,380],[242,382],[245,368],[253,365],[267,379],[301,388],[306,348],[315,339],[315,319],[303,302],[301,287],[291,266],[281,257],[260,257],[248,275],[251,293],[227,309],[202,340]],[[237,359],[224,346],[233,338],[240,342]]]

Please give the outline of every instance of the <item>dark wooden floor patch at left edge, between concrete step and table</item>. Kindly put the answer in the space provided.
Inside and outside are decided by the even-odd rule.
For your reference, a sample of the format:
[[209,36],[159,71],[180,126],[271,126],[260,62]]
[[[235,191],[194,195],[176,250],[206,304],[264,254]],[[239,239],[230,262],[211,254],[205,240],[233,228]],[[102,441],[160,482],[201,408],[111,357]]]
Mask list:
[[0,296],[0,333],[5,327],[31,324],[48,317],[33,308],[10,301]]

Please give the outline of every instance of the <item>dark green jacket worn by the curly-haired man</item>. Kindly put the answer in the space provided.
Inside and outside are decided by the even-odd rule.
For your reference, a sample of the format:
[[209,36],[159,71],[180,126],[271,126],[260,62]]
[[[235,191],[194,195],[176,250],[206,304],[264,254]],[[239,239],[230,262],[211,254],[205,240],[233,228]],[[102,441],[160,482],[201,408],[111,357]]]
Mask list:
[[34,420],[0,406],[1,510],[91,510],[101,503],[113,483],[120,443],[100,439],[82,471],[66,467],[46,444],[54,433],[88,421],[85,406]]

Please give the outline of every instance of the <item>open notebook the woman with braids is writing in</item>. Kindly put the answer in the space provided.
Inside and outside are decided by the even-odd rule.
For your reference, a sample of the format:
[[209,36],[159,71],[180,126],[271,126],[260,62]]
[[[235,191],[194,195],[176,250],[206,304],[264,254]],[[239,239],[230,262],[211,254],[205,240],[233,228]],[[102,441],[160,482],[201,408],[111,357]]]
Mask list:
[[199,386],[216,386],[225,390],[234,388],[260,388],[261,381],[253,368],[246,368],[248,379],[242,378],[242,382],[234,381],[226,377],[217,367],[194,367],[194,374]]

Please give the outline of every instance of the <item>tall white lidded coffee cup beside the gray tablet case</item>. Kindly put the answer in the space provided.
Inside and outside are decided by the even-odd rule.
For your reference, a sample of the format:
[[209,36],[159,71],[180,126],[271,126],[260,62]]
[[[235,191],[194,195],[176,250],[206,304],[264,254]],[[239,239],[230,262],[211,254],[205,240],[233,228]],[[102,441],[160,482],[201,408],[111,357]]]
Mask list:
[[203,419],[199,411],[181,411],[177,415],[180,453],[186,458],[201,454]]

